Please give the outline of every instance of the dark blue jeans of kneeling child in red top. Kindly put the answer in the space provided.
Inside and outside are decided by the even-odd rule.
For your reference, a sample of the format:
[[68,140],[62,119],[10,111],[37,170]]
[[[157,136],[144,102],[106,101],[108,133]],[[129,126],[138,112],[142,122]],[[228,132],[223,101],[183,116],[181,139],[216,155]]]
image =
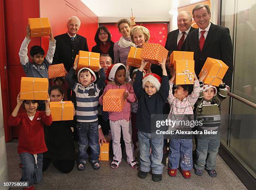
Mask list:
[[20,153],[20,161],[23,165],[20,181],[28,181],[29,186],[39,183],[43,175],[43,153],[37,154],[37,164],[35,157],[30,153]]

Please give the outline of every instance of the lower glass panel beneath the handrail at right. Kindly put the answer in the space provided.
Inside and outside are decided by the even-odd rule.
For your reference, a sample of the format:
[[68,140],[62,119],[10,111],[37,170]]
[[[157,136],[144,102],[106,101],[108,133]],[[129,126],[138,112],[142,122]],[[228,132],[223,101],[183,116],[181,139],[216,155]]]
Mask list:
[[256,178],[256,110],[238,100],[233,105],[228,150]]

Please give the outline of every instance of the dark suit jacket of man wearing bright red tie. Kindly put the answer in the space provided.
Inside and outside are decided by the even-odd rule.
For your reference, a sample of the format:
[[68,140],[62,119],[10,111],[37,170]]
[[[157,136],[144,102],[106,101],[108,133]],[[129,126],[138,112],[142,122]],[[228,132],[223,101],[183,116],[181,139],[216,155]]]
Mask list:
[[211,23],[202,52],[199,49],[198,32],[197,28],[187,35],[185,48],[185,51],[194,52],[196,75],[199,75],[207,57],[222,60],[229,67],[223,82],[230,86],[233,73],[233,47],[229,29]]

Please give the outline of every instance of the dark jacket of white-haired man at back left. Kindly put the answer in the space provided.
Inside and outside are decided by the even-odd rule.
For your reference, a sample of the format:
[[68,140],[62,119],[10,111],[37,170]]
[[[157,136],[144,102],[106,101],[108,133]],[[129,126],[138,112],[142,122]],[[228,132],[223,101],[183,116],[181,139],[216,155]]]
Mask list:
[[63,63],[67,71],[74,65],[74,60],[79,50],[89,51],[87,40],[81,35],[76,35],[74,42],[71,41],[67,33],[57,35],[56,49],[54,52],[53,64]]

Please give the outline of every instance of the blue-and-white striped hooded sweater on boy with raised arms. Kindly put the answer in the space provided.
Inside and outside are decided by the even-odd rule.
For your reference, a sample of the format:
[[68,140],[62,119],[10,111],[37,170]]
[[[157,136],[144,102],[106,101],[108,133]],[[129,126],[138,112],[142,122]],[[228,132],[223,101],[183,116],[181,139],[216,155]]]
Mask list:
[[98,104],[99,93],[106,79],[103,68],[100,69],[100,79],[97,84],[94,82],[87,87],[83,87],[73,79],[75,70],[71,68],[66,76],[66,80],[72,90],[76,93],[77,99],[77,121],[78,122],[94,122],[98,120]]

